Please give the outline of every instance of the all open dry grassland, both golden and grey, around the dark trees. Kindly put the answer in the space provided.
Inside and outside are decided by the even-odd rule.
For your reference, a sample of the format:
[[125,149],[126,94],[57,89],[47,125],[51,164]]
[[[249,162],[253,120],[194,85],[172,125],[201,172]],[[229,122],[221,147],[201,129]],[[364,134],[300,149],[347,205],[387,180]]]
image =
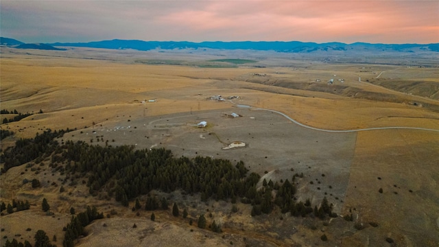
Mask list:
[[[351,209],[356,221],[367,226],[357,231],[342,218],[331,221],[329,226],[319,223],[318,228],[329,237],[329,242],[325,243],[320,241],[322,232],[311,230],[313,223],[307,220],[285,215],[284,220],[278,220],[281,215],[278,212],[274,217],[251,218],[248,217],[250,209],[244,204],[239,204],[238,215],[230,217],[228,204],[210,202],[204,205],[196,197],[185,201],[193,219],[200,212],[211,209],[215,217],[224,220],[228,227],[224,228],[223,238],[189,226],[186,221],[175,220],[166,212],[158,212],[158,221],[150,222],[150,215],[145,211],[138,217],[113,200],[89,196],[85,185],[67,187],[60,195],[59,187],[51,183],[58,183],[61,176],[50,174],[49,161],[45,161],[41,167],[43,172],[38,175],[21,174],[23,166],[1,175],[1,200],[15,198],[33,204],[29,211],[1,216],[1,227],[5,228],[1,233],[2,242],[3,236],[12,239],[17,233],[22,239],[33,237],[34,229],[40,226],[43,218],[45,226],[39,228],[50,238],[57,235],[56,244],[60,245],[62,226],[70,220],[69,208],[73,206],[76,211],[82,211],[87,204],[93,204],[104,213],[116,209],[118,215],[88,226],[91,234],[81,239],[78,246],[116,246],[115,243],[119,243],[118,246],[228,246],[230,242],[237,246],[383,246],[387,244],[385,237],[392,237],[398,246],[437,246],[439,243],[436,224],[439,217],[438,132],[374,130],[335,136],[296,126],[273,113],[234,107],[234,104],[244,104],[278,110],[302,124],[328,130],[387,126],[438,130],[438,111],[424,105],[439,106],[439,102],[392,91],[396,88],[388,90],[366,83],[368,79],[375,83],[373,80],[382,71],[380,80],[398,78],[439,83],[434,69],[327,64],[283,56],[270,58],[268,53],[261,53],[258,62],[268,66],[265,68],[247,64],[239,68],[206,69],[146,65],[135,61],[178,59],[202,64],[204,60],[217,58],[209,54],[211,51],[195,55],[179,51],[175,54],[120,51],[117,54],[118,51],[99,49],[71,49],[64,54],[29,51],[32,55],[13,49],[1,52],[0,108],[16,109],[21,113],[43,110],[43,114],[2,124],[1,128],[16,132],[15,137],[2,141],[2,148],[18,138],[34,137],[36,132],[47,128],[77,128],[64,138],[87,142],[95,138],[94,130],[106,140],[115,139],[115,145],[139,143],[138,148],[163,145],[176,155],[194,156],[198,152],[231,160],[242,159],[250,165],[252,172],[264,176],[264,171],[268,171],[265,178],[288,178],[289,169],[294,167],[309,176],[300,187],[300,195],[302,199],[312,195],[313,202],[322,198],[323,191],[306,184],[308,179],[325,172],[327,180],[324,183],[336,187],[335,181],[340,181],[340,186],[333,192],[333,198],[340,198],[331,200],[336,202],[337,211],[345,214]],[[328,85],[331,78],[335,84]],[[343,83],[338,81],[340,78],[344,79]],[[317,79],[321,82],[316,82]],[[361,93],[347,96],[342,92],[344,88]],[[239,98],[215,102],[207,99],[212,95],[237,95]],[[373,99],[374,95],[380,95],[380,98]],[[437,99],[436,96],[431,98]],[[157,101],[142,103],[148,99]],[[231,112],[244,117],[221,117]],[[256,117],[258,121],[250,120],[250,117]],[[201,130],[191,126],[201,119],[209,119],[209,128]],[[115,132],[115,126],[132,128]],[[209,132],[215,132],[217,137]],[[218,139],[224,143],[244,141],[249,145],[222,151],[225,144]],[[298,161],[302,163],[298,165]],[[32,176],[43,181],[42,189],[31,189],[29,184],[22,186],[23,179],[32,179]],[[378,192],[380,187],[383,193]],[[54,217],[40,211],[43,197],[48,198],[53,207]],[[192,207],[192,204],[197,206]],[[29,226],[18,223],[24,218]],[[372,227],[369,222],[378,222],[379,226]],[[137,228],[132,228],[134,223]],[[27,227],[32,231],[25,231]],[[169,233],[178,239],[170,237]]]

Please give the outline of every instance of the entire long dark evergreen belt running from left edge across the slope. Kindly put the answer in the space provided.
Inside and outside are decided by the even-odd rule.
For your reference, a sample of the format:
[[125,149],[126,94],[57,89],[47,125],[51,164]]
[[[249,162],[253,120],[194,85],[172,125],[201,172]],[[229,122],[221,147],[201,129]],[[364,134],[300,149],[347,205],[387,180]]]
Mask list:
[[[152,190],[169,193],[181,189],[185,193],[200,193],[202,201],[231,200],[235,203],[239,198],[252,205],[252,215],[271,213],[275,207],[282,213],[302,217],[334,215],[326,198],[319,207],[312,207],[309,200],[300,202],[296,199],[295,180],[302,174],[295,174],[291,183],[289,180],[281,184],[264,180],[263,186],[257,188],[261,176],[254,172],[248,174],[243,161],[233,165],[226,159],[209,156],[175,157],[165,148],[135,150],[133,145],[112,147],[89,145],[83,141],[62,144],[54,141],[54,137],[67,131],[47,130],[34,139],[16,141],[15,147],[1,156],[5,171],[40,156],[51,156],[52,167],[65,164],[66,178],[72,181],[87,178],[89,193],[94,196],[106,193],[123,206]],[[145,209],[156,209],[157,205],[156,199],[148,198]]]

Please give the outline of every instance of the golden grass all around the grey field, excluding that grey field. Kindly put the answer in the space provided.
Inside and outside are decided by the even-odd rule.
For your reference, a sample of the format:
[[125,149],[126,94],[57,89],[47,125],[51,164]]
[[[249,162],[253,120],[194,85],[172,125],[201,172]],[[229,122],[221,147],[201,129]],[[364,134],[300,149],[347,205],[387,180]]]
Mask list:
[[[439,130],[439,111],[434,110],[439,107],[437,68],[327,64],[272,56],[264,54],[264,58],[257,63],[269,64],[268,67],[244,64],[236,68],[204,68],[139,64],[135,61],[180,59],[202,64],[215,56],[99,49],[70,49],[62,54],[62,51],[18,51],[2,48],[0,108],[36,114],[21,121],[2,124],[2,129],[12,130],[16,134],[4,139],[1,148],[13,145],[21,137],[34,137],[36,132],[47,128],[77,128],[79,132],[84,128],[126,124],[126,119],[136,121],[162,115],[196,114],[209,110],[230,112],[235,109],[228,101],[215,102],[207,99],[212,95],[238,95],[238,99],[233,99],[235,104],[278,110],[314,128],[352,130],[404,126]],[[255,73],[265,75],[258,76]],[[331,78],[335,79],[335,83],[328,85],[327,81]],[[343,83],[338,81],[340,78],[344,79]],[[321,81],[316,82],[317,79]],[[381,86],[372,84],[378,80],[428,82],[427,89],[431,89],[431,98],[422,94],[416,95],[414,89],[407,89],[407,92],[412,93],[410,94],[405,89],[381,87],[392,86],[391,83]],[[316,90],[316,84],[317,89],[322,91]],[[341,86],[361,93],[358,96],[346,96],[346,91],[341,91]],[[373,99],[373,95],[384,96]],[[385,100],[385,97],[392,100]],[[148,99],[157,101],[150,103],[147,102]],[[38,114],[39,110],[43,110],[43,113]],[[1,119],[3,117],[2,115]],[[29,211],[1,216],[1,228],[6,230],[1,232],[0,241],[3,245],[3,236],[12,238],[17,233],[23,239],[33,237],[34,231],[27,232],[18,223],[26,219],[30,228],[41,226],[49,237],[57,235],[56,244],[60,246],[62,226],[70,219],[69,208],[74,205],[79,211],[86,204],[95,204],[106,213],[110,209],[117,209],[119,214],[115,218],[93,223],[90,226],[93,233],[81,239],[78,246],[108,246],[113,243],[108,242],[109,239],[120,242],[119,246],[150,246],[151,243],[155,243],[152,246],[178,245],[178,239],[177,242],[169,242],[167,231],[182,235],[180,246],[187,246],[184,243],[195,243],[193,246],[228,246],[230,241],[237,246],[245,246],[242,236],[258,239],[254,243],[260,246],[385,246],[388,244],[384,241],[385,237],[392,237],[397,246],[438,246],[439,132],[372,130],[357,132],[355,138],[353,157],[346,157],[351,159],[351,167],[340,213],[348,213],[351,209],[359,222],[365,225],[368,222],[379,222],[379,227],[368,226],[364,230],[355,231],[352,226],[340,226],[340,230],[334,230],[331,224],[322,226],[329,235],[328,243],[318,239],[320,230],[311,231],[300,225],[295,227],[301,235],[292,235],[283,241],[276,239],[275,235],[281,233],[274,230],[270,233],[272,235],[263,235],[265,228],[281,223],[268,217],[259,221],[249,219],[248,209],[244,209],[244,206],[239,218],[229,219],[230,225],[244,224],[250,230],[244,232],[230,228],[224,234],[225,239],[222,239],[221,235],[204,233],[192,226],[195,232],[188,234],[186,224],[173,220],[166,213],[158,213],[159,218],[163,219],[161,222],[151,223],[147,220],[145,223],[145,220],[139,220],[130,209],[118,207],[114,201],[87,196],[88,189],[84,185],[69,188],[73,196],[67,199],[60,199],[57,194],[59,188],[43,187],[32,190],[29,186],[21,186],[23,167],[14,167],[6,174],[1,174],[1,200],[8,202],[14,198],[26,199],[34,206]],[[134,143],[129,143],[128,140],[124,144]],[[46,165],[47,163],[48,161]],[[38,176],[40,180],[50,182],[59,178],[58,175],[51,176],[49,172]],[[380,187],[383,193],[378,192]],[[43,197],[48,198],[53,205],[56,217],[45,216],[40,212],[40,200]],[[215,212],[225,220],[227,213],[219,210],[221,206],[217,202],[213,204]],[[193,213],[196,215],[195,209]],[[143,216],[149,219],[149,215],[143,213]],[[41,219],[45,224],[40,224]],[[343,224],[343,221],[337,220],[333,223],[335,226]],[[121,226],[123,223],[118,221],[128,223]],[[119,232],[119,235],[112,235],[110,238],[102,230],[104,222],[108,225],[107,229],[111,230],[108,230],[109,233]],[[124,233],[123,231],[128,230],[123,229],[129,228],[134,222],[150,230],[138,232],[130,229],[129,233]],[[126,236],[134,238],[139,235],[147,240],[122,240]],[[166,242],[164,239],[167,239]],[[316,242],[316,239],[320,242]]]

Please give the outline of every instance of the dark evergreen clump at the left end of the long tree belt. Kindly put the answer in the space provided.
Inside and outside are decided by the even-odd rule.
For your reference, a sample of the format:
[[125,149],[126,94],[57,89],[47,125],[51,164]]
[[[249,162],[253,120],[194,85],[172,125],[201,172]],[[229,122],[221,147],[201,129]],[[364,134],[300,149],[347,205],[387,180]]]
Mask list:
[[15,142],[14,148],[5,150],[0,156],[1,163],[5,163],[1,172],[7,172],[11,167],[23,165],[29,161],[33,161],[38,157],[50,156],[56,149],[60,150],[58,141],[54,141],[55,137],[62,135],[70,130],[60,130],[52,132],[47,129],[43,134],[36,134],[33,139],[19,139]]

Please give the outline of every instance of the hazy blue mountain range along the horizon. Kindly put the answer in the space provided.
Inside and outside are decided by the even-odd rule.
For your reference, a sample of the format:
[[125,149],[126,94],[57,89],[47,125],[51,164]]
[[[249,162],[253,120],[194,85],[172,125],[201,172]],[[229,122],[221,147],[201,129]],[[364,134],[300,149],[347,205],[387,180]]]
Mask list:
[[[204,41],[200,43],[188,41],[143,41],[143,40],[102,40],[88,43],[51,43],[25,44],[13,38],[1,37],[0,45],[18,49],[64,50],[64,47],[91,47],[102,49],[134,49],[149,51],[153,49],[250,49],[257,51],[278,51],[292,53],[313,52],[439,52],[439,43],[432,44],[371,44],[371,43],[311,43],[300,41]],[[63,48],[58,48],[63,47]]]

